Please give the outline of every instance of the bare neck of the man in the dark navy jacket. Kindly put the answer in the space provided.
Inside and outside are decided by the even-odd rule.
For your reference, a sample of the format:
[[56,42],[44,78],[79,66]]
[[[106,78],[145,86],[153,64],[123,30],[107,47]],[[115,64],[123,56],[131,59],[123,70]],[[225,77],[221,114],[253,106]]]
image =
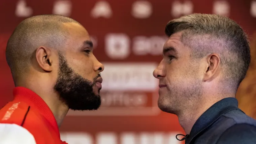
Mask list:
[[[208,97],[211,98],[211,97]],[[212,97],[213,98],[213,97]],[[218,97],[215,99],[206,99],[197,102],[198,105],[191,106],[178,115],[179,123],[184,129],[186,134],[190,134],[190,131],[195,124],[196,120],[212,105],[222,100],[224,97]]]

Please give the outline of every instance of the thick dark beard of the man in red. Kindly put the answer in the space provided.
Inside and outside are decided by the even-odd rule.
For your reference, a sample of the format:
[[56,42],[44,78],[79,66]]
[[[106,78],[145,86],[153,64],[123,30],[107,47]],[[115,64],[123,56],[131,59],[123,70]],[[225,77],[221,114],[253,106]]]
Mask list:
[[98,75],[93,82],[83,78],[70,68],[64,56],[59,53],[59,74],[54,86],[60,99],[71,110],[97,110],[101,105],[101,97],[93,92]]

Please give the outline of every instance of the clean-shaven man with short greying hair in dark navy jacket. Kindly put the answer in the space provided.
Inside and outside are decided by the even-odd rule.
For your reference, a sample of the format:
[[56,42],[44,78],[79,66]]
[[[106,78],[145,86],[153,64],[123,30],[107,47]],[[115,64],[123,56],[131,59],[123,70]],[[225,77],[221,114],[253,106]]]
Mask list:
[[[158,106],[178,116],[186,144],[255,144],[256,121],[238,108],[237,88],[250,64],[246,33],[228,17],[191,14],[170,21]],[[178,135],[177,135],[178,136]]]

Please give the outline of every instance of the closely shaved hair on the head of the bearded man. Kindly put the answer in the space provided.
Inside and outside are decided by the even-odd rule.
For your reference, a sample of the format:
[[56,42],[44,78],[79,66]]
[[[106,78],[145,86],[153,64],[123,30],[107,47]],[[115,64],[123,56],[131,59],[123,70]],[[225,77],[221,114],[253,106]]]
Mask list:
[[62,15],[45,14],[29,17],[13,31],[6,46],[6,61],[15,80],[26,73],[32,53],[39,46],[61,47],[69,33],[63,23],[77,21]]

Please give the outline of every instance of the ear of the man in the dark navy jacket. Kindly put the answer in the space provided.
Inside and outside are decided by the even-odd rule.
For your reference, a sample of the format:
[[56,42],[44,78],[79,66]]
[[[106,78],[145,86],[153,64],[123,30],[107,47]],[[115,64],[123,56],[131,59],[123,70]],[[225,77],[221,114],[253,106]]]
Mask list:
[[203,81],[211,80],[218,74],[220,57],[217,53],[212,53],[206,57],[207,67],[204,70]]

